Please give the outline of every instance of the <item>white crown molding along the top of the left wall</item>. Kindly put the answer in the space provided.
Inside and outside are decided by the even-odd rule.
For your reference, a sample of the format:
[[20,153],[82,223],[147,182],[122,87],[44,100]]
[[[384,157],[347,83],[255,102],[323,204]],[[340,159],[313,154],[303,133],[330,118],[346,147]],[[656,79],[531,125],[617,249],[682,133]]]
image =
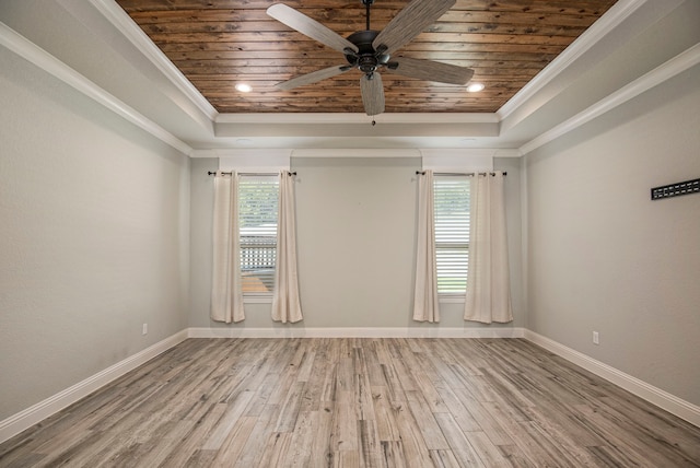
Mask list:
[[188,144],[173,133],[125,104],[116,96],[107,93],[84,75],[78,73],[2,22],[0,22],[0,45],[174,149],[187,155],[192,151]]

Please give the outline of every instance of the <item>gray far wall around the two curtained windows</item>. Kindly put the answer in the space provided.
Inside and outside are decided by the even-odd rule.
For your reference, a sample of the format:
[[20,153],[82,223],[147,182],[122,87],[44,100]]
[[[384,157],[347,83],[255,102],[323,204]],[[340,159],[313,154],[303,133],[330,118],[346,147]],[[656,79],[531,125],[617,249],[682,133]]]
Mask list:
[[[521,294],[520,160],[497,159],[509,172],[509,243],[515,320],[525,326]],[[463,304],[443,304],[439,325],[411,319],[416,249],[417,157],[292,159],[299,173],[296,223],[304,320],[272,323],[269,304],[246,304],[246,320],[209,318],[214,159],[192,160],[190,327],[401,328],[481,327],[465,323]],[[492,327],[498,327],[494,325]]]

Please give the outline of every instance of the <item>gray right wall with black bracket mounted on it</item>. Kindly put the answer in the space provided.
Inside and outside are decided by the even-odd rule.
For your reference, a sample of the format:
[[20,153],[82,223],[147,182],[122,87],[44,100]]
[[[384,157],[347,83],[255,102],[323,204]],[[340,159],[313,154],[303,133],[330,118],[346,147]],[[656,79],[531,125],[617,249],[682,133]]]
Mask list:
[[[700,405],[700,67],[526,156],[528,328]],[[600,344],[592,343],[592,331]]]

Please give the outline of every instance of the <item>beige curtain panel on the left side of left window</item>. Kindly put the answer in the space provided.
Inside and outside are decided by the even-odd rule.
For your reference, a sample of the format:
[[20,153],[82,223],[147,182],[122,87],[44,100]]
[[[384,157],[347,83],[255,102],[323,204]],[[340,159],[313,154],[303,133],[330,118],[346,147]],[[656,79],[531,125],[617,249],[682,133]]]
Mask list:
[[241,257],[238,241],[238,177],[236,173],[214,175],[213,272],[211,283],[211,319],[241,321]]

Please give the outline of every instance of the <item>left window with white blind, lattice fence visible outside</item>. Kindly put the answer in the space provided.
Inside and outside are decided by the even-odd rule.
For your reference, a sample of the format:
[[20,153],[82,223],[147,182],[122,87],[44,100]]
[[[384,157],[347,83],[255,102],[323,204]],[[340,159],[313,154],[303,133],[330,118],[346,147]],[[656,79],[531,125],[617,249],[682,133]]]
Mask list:
[[238,179],[241,285],[244,294],[272,293],[277,260],[277,175]]

